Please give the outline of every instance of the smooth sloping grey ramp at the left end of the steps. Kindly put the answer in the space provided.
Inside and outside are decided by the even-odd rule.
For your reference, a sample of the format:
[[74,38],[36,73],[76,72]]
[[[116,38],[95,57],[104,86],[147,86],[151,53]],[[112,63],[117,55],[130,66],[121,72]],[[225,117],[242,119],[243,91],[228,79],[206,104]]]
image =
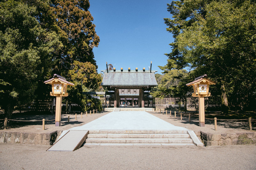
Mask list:
[[87,130],[69,130],[47,151],[75,151],[81,147],[88,134]]

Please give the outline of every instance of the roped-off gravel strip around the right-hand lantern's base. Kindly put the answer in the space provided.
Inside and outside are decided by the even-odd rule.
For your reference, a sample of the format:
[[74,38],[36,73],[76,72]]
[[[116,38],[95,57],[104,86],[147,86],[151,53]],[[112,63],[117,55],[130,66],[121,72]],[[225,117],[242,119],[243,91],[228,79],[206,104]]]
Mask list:
[[221,133],[241,133],[241,132],[256,132],[256,126],[253,125],[252,130],[249,129],[248,121],[217,121],[217,130],[214,130],[214,120],[205,119],[205,127],[200,127],[198,125],[198,117],[192,117],[191,121],[188,122],[188,115],[182,115],[182,120],[180,120],[180,115],[177,113],[176,118],[174,118],[174,113],[165,115],[161,113],[148,112],[151,115],[154,115],[160,119],[163,119],[166,122],[169,122],[175,126],[184,127],[187,129],[194,130],[197,134],[199,131],[212,134],[221,134]]

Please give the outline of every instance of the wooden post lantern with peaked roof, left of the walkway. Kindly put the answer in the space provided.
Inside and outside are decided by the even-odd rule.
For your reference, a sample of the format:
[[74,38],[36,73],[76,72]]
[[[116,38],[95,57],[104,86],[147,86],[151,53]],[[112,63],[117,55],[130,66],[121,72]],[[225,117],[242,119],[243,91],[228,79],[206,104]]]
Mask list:
[[67,97],[67,87],[68,85],[74,85],[66,80],[66,78],[54,74],[53,78],[44,81],[45,84],[52,84],[51,96],[56,96],[56,111],[55,111],[55,126],[60,126],[61,121],[61,100],[62,97]]

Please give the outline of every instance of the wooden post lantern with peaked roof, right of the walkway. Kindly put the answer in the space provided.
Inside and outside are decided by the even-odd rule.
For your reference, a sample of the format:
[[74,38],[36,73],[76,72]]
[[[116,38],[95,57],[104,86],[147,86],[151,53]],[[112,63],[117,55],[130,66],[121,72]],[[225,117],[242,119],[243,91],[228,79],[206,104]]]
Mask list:
[[193,97],[198,97],[199,103],[199,126],[204,127],[204,97],[211,96],[209,92],[209,85],[215,85],[216,82],[209,80],[207,75],[204,74],[195,78],[195,81],[186,84],[187,86],[193,85],[194,93],[192,93]]

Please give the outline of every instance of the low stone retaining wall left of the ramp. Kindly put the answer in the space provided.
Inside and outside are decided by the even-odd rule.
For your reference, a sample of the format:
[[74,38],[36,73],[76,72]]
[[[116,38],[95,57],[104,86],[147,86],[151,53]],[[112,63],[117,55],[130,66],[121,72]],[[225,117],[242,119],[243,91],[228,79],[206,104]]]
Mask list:
[[0,131],[0,142],[36,145],[52,145],[61,131],[49,133],[27,133]]

